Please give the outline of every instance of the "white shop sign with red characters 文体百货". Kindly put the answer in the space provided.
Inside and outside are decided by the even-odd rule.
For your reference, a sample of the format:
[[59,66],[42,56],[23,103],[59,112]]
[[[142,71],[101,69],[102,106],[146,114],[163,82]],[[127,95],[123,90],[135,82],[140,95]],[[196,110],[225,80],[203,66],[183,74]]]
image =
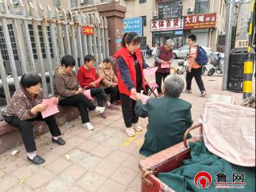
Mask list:
[[151,20],[151,31],[182,30],[183,18],[165,18]]

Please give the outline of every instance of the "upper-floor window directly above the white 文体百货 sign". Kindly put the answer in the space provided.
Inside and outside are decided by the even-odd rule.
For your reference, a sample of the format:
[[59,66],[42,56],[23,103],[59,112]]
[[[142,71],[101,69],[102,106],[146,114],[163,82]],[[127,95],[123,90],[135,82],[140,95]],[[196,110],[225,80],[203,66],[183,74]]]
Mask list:
[[159,3],[158,13],[159,18],[175,18],[182,16],[180,1]]

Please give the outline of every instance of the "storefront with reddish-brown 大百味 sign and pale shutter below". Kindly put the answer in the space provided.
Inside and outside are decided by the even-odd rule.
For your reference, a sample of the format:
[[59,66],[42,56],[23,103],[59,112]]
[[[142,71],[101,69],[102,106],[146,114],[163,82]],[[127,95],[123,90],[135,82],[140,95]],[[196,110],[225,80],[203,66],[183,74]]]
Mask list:
[[188,38],[190,34],[195,34],[198,37],[198,44],[207,47],[211,46],[210,41],[213,39],[213,35],[217,34],[216,19],[216,13],[185,16],[183,19],[183,29],[186,38]]

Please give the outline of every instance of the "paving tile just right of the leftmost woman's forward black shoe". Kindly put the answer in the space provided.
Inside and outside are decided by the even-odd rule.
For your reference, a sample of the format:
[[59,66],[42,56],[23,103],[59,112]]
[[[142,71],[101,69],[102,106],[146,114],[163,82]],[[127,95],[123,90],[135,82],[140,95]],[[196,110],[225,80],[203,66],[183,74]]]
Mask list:
[[50,162],[50,164],[48,164],[46,166],[46,169],[50,170],[50,172],[52,172],[54,174],[59,174],[63,170],[65,170],[68,166],[70,166],[71,164],[72,164],[72,162],[70,162],[64,158],[58,158],[58,159],[54,160],[54,162]]

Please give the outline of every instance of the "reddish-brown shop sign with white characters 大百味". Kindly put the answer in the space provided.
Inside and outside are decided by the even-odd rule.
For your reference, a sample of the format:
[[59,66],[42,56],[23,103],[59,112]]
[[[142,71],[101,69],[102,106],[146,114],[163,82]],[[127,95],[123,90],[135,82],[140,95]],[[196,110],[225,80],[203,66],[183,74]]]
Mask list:
[[217,14],[193,14],[184,17],[184,30],[216,27]]

